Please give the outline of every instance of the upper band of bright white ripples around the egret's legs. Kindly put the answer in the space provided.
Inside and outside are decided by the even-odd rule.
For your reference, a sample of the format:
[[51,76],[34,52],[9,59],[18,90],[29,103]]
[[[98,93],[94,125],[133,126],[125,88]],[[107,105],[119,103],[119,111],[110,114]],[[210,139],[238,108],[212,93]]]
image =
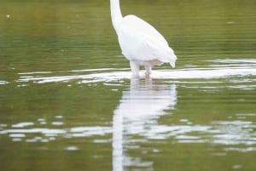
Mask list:
[[[104,70],[108,71],[108,70]],[[231,67],[231,68],[195,68],[195,69],[176,69],[176,70],[158,70],[153,71],[152,78],[154,79],[211,79],[224,77],[246,77],[256,76],[256,67]],[[143,73],[141,73],[143,77]],[[99,73],[89,73],[84,75],[70,76],[49,76],[40,77],[31,73],[22,73],[22,77],[18,82],[33,82],[33,83],[67,83],[72,80],[79,80],[78,83],[97,83],[97,82],[112,82],[122,79],[131,78],[131,71],[108,71]]]

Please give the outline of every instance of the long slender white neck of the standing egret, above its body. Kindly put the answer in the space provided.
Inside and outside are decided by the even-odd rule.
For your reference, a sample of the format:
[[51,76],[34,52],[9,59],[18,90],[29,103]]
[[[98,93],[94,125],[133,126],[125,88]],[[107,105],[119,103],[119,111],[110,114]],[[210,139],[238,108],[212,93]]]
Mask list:
[[123,19],[119,0],[110,0],[110,10],[111,10],[111,19],[112,19],[113,28],[115,29],[115,31],[117,31],[118,24],[120,20]]

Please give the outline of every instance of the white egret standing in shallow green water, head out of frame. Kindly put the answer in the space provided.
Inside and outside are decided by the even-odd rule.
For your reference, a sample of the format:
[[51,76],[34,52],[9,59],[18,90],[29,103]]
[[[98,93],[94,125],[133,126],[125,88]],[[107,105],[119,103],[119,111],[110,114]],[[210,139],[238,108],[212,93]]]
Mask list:
[[175,67],[177,57],[159,31],[135,15],[123,17],[119,0],[110,0],[110,9],[119,46],[125,58],[130,60],[134,76],[139,74],[139,66],[145,67],[146,74],[151,73],[153,66],[166,62]]

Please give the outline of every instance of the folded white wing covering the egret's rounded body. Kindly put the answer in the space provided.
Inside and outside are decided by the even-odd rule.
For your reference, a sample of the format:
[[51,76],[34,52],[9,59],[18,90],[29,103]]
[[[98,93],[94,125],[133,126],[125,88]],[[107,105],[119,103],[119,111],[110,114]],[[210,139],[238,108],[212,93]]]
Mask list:
[[166,39],[153,26],[135,15],[125,16],[117,33],[122,53],[128,60],[173,60],[170,59],[173,51]]

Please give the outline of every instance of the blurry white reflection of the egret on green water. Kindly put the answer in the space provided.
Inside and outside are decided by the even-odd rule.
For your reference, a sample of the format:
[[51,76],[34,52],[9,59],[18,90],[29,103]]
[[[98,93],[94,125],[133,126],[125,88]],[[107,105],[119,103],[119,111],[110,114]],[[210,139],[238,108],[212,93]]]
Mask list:
[[[150,134],[148,126],[157,125],[157,119],[166,114],[165,110],[172,110],[176,103],[176,84],[154,83],[150,77],[131,78],[130,88],[123,92],[113,113],[113,171],[140,165],[138,162],[133,164],[131,157],[123,152],[125,143],[129,141],[125,135]],[[147,170],[153,170],[152,162],[141,164]]]

